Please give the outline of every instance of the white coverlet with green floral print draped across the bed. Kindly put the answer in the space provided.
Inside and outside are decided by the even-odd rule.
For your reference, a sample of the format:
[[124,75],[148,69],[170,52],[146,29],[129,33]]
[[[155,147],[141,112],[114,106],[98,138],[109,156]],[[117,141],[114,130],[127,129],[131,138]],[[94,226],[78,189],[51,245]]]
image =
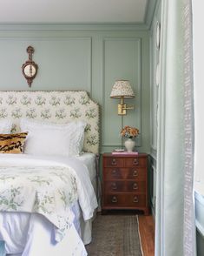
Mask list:
[[37,212],[55,225],[56,241],[73,223],[76,178],[63,166],[0,166],[0,211]]

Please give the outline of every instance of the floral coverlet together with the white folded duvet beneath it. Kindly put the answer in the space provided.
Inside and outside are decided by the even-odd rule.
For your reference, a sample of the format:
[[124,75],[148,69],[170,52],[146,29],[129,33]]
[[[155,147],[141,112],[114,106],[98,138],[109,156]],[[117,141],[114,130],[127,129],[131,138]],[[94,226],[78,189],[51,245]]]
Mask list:
[[0,211],[43,214],[56,226],[56,241],[59,241],[73,222],[70,206],[77,199],[84,219],[93,216],[97,202],[87,172],[74,158],[3,155]]

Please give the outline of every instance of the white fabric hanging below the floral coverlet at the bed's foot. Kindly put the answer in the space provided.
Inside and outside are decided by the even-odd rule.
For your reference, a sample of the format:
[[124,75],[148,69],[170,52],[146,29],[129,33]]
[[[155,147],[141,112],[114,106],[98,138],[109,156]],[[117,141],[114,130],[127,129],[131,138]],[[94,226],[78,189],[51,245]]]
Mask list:
[[74,225],[61,242],[55,241],[54,226],[38,213],[9,212],[5,215],[0,212],[0,226],[5,228],[0,239],[7,241],[5,251],[12,256],[16,253],[21,256],[87,255]]

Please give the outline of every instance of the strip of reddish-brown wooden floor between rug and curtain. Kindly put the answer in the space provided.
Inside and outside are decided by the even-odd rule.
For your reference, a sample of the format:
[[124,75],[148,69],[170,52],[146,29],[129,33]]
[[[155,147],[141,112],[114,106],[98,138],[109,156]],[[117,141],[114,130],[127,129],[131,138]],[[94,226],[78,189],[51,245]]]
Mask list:
[[152,215],[138,215],[141,247],[144,256],[155,255],[155,221]]

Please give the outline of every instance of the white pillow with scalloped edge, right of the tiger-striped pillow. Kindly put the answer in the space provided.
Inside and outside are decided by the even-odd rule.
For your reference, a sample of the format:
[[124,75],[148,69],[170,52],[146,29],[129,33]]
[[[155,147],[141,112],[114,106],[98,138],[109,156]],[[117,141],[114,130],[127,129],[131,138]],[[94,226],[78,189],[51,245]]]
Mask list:
[[83,121],[56,125],[23,118],[21,131],[29,131],[24,153],[33,155],[79,156],[84,140]]

